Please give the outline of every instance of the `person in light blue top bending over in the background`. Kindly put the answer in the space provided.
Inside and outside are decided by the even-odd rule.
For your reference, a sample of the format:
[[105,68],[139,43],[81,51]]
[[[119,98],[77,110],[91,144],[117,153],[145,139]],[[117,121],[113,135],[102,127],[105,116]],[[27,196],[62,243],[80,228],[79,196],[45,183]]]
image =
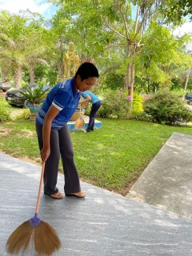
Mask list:
[[90,121],[88,123],[86,130],[84,130],[85,133],[89,133],[90,131],[94,130],[94,118],[99,108],[102,106],[102,102],[100,98],[98,98],[95,94],[91,93],[90,91],[82,92],[82,98],[84,98],[84,100],[80,102],[82,106],[89,102],[92,104],[90,110]]

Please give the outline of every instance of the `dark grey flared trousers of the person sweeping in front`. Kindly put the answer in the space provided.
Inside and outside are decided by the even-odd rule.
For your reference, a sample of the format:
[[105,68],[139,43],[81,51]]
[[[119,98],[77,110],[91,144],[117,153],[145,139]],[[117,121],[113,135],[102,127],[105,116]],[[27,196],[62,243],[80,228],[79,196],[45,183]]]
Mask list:
[[[42,150],[42,126],[36,123],[38,134],[39,149]],[[74,149],[70,139],[68,126],[62,127],[61,130],[51,129],[50,131],[50,156],[46,160],[44,172],[44,193],[55,194],[58,192],[56,186],[58,180],[58,162],[62,157],[62,167],[65,174],[65,194],[78,193],[81,186],[78,178],[78,171],[74,164]]]

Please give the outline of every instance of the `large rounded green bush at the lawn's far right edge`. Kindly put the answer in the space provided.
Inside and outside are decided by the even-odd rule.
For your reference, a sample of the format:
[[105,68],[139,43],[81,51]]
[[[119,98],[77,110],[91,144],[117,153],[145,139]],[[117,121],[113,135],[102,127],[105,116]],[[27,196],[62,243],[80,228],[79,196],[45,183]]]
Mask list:
[[175,126],[192,120],[192,112],[170,90],[159,90],[157,94],[150,95],[143,101],[142,106],[146,114],[153,117],[154,122]]

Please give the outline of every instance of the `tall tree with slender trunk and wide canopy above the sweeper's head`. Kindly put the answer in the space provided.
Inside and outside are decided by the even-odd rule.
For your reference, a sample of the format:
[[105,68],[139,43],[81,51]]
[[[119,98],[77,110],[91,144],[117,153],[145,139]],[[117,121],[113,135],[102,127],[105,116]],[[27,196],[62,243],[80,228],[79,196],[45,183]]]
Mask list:
[[107,63],[120,63],[119,73],[124,73],[126,89],[133,98],[135,59],[142,51],[143,34],[161,1],[85,0],[83,8],[79,0],[51,2],[60,7],[59,14],[69,21],[66,37],[74,38],[82,54],[99,59],[102,69]]

